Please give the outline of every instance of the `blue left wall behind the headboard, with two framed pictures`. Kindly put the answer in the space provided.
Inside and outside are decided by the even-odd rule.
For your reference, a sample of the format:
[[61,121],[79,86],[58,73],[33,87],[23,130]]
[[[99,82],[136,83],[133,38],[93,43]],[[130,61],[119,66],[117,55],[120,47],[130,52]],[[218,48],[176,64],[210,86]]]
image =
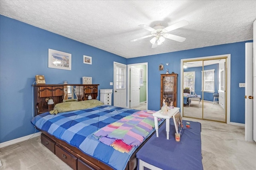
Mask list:
[[[89,76],[99,89],[112,89],[113,62],[126,64],[124,57],[2,15],[0,37],[0,143],[34,133],[36,74],[44,75],[46,84],[82,84],[82,77]],[[48,68],[48,49],[72,54],[72,70]],[[83,63],[83,55],[92,57],[92,65]]]

